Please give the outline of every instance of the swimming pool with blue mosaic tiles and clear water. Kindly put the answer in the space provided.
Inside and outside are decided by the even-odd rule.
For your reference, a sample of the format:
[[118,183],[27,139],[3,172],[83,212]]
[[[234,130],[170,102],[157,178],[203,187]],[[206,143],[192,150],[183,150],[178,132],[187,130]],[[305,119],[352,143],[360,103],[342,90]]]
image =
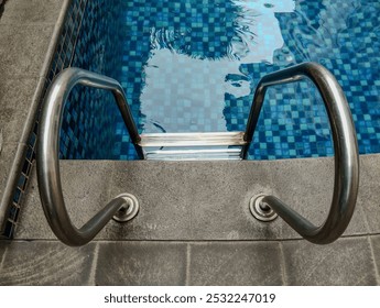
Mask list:
[[[70,65],[119,80],[140,133],[243,131],[259,79],[312,61],[344,88],[359,152],[380,152],[378,1],[82,2]],[[78,89],[66,108],[62,157],[137,158],[112,98],[91,91]],[[310,82],[268,92],[250,160],[333,153]]]

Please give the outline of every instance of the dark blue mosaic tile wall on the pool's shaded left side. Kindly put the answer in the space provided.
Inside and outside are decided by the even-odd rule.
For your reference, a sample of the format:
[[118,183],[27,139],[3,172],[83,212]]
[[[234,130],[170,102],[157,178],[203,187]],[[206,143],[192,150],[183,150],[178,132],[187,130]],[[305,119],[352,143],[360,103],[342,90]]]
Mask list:
[[[80,67],[115,77],[118,56],[118,6],[105,0],[87,1],[83,18],[75,25],[74,44],[63,44],[70,55],[66,66]],[[120,68],[121,69],[121,68]],[[120,116],[112,95],[108,91],[77,86],[64,110],[59,152],[63,158],[112,158],[116,145],[116,122]]]

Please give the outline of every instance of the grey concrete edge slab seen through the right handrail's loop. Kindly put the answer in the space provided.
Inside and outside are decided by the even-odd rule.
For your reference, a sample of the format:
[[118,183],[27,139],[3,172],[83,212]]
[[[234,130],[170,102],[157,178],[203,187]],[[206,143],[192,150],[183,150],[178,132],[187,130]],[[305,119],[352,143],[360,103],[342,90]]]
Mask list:
[[[334,161],[332,157],[278,161],[271,165],[271,174],[275,197],[316,226],[321,226],[325,221],[334,191]],[[300,238],[286,224],[282,230],[283,239]],[[357,202],[352,219],[344,234],[367,233],[368,227],[362,208],[360,202]]]

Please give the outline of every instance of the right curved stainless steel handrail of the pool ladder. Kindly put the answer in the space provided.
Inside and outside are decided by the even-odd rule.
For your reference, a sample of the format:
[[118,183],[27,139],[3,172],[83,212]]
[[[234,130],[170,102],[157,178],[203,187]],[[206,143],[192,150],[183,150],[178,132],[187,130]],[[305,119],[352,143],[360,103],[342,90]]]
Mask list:
[[338,239],[346,230],[356,205],[359,185],[359,155],[356,132],[346,97],[334,76],[323,66],[315,63],[300,64],[264,76],[254,92],[251,112],[248,119],[245,140],[248,142],[243,150],[247,156],[258,123],[261,106],[267,88],[311,79],[321,92],[332,127],[335,151],[334,195],[326,221],[316,227],[296,211],[274,196],[262,199],[280,217],[282,217],[296,232],[306,240],[327,244]]

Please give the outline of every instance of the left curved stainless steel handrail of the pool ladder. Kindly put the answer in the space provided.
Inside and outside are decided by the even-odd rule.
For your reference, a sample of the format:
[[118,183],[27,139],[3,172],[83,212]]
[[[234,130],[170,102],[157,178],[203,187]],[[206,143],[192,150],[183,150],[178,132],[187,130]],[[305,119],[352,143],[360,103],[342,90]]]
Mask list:
[[59,73],[50,86],[42,107],[36,155],[37,180],[41,202],[53,232],[61,241],[74,246],[84,245],[93,240],[115,213],[128,204],[122,196],[116,197],[80,229],[72,223],[67,213],[61,185],[58,136],[66,100],[77,84],[110,90],[113,94],[137,152],[142,157],[142,150],[137,145],[140,135],[120,84],[79,68],[66,68]]

